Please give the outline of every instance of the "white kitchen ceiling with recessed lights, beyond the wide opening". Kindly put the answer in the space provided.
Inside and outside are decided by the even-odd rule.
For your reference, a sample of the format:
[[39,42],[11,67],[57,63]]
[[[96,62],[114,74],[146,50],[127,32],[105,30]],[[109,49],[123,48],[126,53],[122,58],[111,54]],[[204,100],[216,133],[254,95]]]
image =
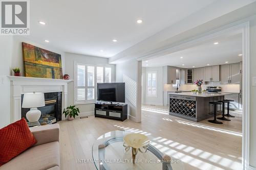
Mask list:
[[[219,44],[214,44],[219,42]],[[181,68],[204,67],[237,63],[242,61],[242,33],[230,33],[211,39],[200,45],[187,48],[172,54],[148,59],[142,62],[143,67],[176,66]],[[184,64],[184,65],[183,65]]]

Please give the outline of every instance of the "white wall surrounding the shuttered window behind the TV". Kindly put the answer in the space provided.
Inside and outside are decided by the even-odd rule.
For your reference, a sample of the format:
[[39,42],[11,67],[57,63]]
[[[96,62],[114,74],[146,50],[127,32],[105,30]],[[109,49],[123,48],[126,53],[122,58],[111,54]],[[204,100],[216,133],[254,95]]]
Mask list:
[[[108,58],[85,56],[79,54],[66,53],[66,71],[65,73],[70,76],[70,79],[74,80],[74,64],[75,62],[88,63],[88,64],[108,64]],[[115,82],[115,65],[110,64],[112,70],[112,82]],[[68,105],[74,105],[74,82],[68,84]],[[82,115],[94,114],[94,104],[77,105]]]

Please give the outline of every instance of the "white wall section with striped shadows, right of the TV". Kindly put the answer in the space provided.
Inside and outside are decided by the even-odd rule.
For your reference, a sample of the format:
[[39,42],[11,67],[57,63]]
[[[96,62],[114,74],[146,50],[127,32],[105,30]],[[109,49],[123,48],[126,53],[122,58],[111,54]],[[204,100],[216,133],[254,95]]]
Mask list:
[[141,61],[116,64],[116,82],[125,83],[125,103],[128,104],[129,118],[134,122],[141,122],[141,75]]

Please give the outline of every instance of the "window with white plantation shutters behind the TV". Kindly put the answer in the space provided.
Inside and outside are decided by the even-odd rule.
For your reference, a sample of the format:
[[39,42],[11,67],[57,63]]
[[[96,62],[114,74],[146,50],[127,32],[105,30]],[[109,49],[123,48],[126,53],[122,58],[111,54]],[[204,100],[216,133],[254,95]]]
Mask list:
[[111,83],[111,67],[76,64],[75,104],[97,100],[97,83]]

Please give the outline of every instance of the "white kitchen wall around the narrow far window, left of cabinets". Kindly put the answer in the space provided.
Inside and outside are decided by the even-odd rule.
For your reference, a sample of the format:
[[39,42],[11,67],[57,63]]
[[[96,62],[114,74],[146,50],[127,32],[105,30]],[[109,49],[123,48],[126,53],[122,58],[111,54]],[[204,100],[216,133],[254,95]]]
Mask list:
[[[145,67],[143,69],[145,78],[143,83],[145,85],[144,93],[144,104],[146,105],[160,105],[163,106],[163,67]],[[148,96],[147,95],[147,72],[148,71],[157,71],[157,96]]]

